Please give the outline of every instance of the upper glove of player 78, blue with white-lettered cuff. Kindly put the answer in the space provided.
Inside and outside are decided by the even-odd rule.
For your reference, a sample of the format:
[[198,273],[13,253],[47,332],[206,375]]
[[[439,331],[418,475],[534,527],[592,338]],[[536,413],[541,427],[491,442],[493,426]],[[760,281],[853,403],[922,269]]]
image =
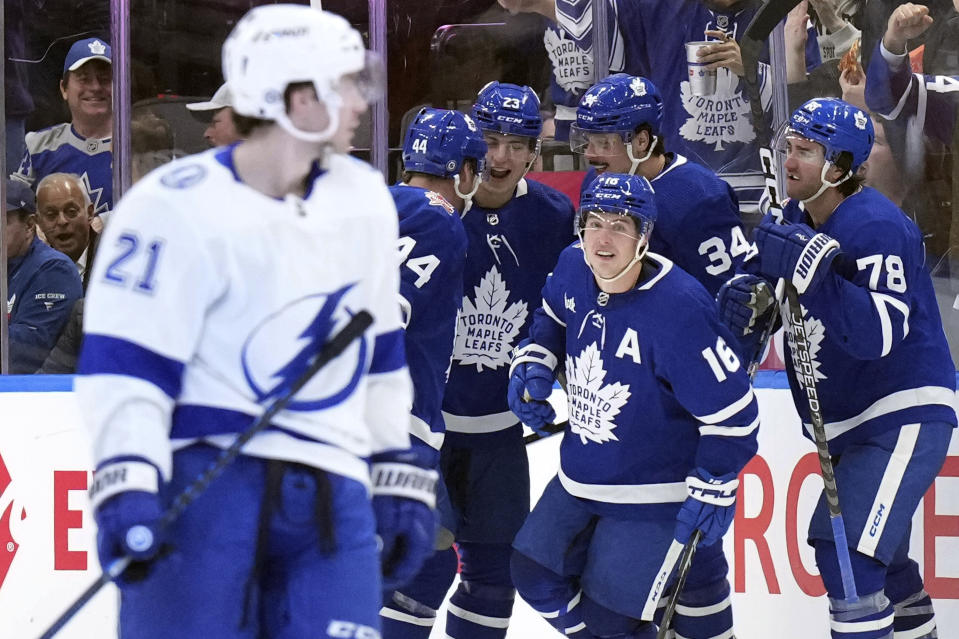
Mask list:
[[759,271],[769,279],[792,282],[800,295],[815,291],[839,255],[839,242],[805,224],[764,222],[754,232]]

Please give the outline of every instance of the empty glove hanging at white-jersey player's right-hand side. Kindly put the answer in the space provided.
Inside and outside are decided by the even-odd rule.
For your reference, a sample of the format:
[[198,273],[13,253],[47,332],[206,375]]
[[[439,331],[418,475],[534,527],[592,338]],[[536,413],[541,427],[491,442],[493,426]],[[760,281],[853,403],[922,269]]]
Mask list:
[[396,590],[433,554],[439,474],[414,450],[375,455],[370,469],[383,588]]

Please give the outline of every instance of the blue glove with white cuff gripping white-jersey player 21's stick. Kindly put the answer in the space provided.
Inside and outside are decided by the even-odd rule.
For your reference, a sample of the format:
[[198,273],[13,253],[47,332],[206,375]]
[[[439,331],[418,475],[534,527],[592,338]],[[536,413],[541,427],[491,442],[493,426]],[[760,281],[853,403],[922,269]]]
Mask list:
[[90,501],[97,520],[97,551],[104,572],[119,559],[133,562],[114,579],[121,584],[146,577],[160,546],[160,471],[143,460],[112,461],[93,474]]

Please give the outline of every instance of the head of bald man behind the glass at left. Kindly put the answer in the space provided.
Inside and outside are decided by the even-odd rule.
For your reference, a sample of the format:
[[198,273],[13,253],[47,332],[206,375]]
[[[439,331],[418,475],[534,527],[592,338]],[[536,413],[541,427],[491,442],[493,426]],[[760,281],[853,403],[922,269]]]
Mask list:
[[51,173],[37,185],[38,226],[47,244],[77,266],[86,289],[97,233],[91,228],[93,203],[83,181],[72,173]]

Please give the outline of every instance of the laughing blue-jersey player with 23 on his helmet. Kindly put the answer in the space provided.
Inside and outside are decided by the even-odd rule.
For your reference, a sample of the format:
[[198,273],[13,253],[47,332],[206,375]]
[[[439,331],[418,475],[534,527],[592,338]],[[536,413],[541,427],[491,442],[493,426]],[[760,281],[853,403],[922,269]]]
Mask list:
[[[462,561],[446,635],[502,639],[513,609],[510,543],[529,512],[523,429],[506,403],[509,353],[526,336],[539,291],[573,239],[565,195],[525,179],[536,159],[542,119],[529,87],[493,82],[473,120],[489,151],[487,179],[466,208],[463,301],[443,398],[446,437],[440,468]],[[425,639],[456,575],[456,556],[437,553],[394,598],[391,639]]]

